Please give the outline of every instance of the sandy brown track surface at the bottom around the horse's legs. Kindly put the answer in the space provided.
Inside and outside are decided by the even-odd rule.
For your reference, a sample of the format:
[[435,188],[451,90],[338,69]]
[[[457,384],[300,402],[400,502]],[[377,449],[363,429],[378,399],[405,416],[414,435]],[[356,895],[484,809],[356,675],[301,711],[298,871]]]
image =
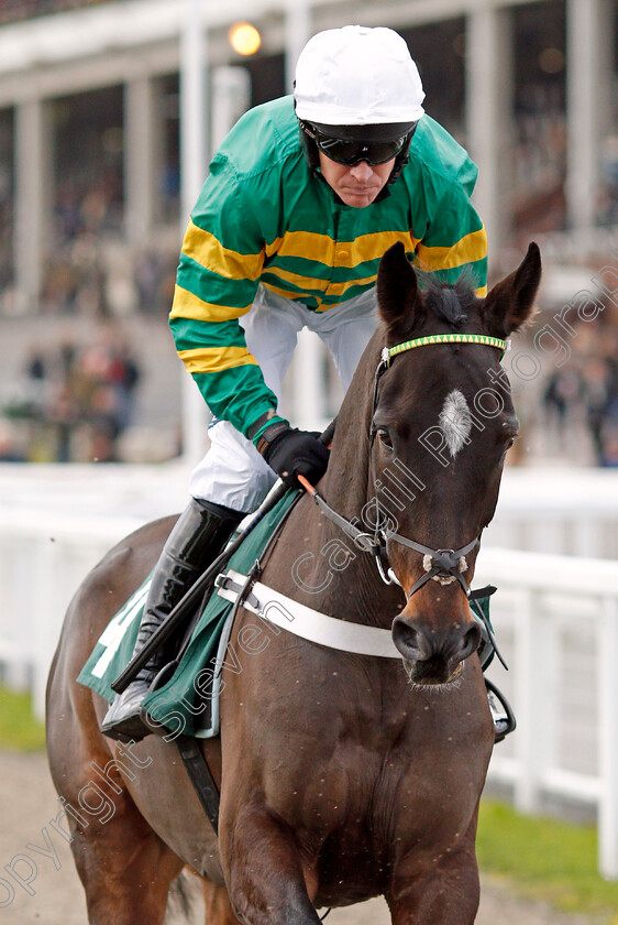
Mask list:
[[[2,925],[87,925],[84,892],[77,877],[68,844],[51,827],[59,804],[52,786],[43,754],[15,755],[0,752],[0,923]],[[45,833],[52,839],[57,860]],[[27,846],[38,846],[47,855]],[[27,863],[14,861],[22,855],[35,864],[35,874]],[[12,881],[5,866],[15,864],[24,879],[32,878],[26,889]],[[59,864],[59,867],[57,867]],[[14,884],[14,897],[9,903],[5,883]],[[559,915],[549,907],[522,901],[494,880],[483,878],[482,902],[477,925],[592,925],[592,919]],[[194,903],[191,925],[203,925],[199,897]],[[187,919],[170,912],[168,925],[181,925]],[[335,910],[328,916],[328,925],[389,925],[390,918],[383,900],[346,910]]]

